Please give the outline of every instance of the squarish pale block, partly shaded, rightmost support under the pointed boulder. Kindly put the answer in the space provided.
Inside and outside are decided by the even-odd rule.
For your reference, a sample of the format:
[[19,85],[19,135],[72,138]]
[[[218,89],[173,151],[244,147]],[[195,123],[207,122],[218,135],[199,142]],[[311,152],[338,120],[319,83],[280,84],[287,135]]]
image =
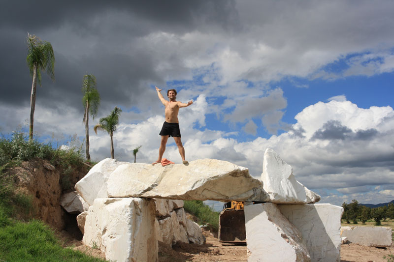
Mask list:
[[278,204],[301,232],[312,261],[339,262],[343,208],[332,204]]

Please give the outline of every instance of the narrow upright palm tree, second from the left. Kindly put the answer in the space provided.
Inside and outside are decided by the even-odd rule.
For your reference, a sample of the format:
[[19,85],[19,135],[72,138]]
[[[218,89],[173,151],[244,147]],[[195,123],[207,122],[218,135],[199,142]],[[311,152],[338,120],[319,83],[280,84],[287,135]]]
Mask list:
[[94,75],[84,75],[82,79],[82,104],[85,107],[85,113],[83,115],[82,122],[85,124],[85,150],[86,159],[90,160],[89,154],[89,115],[95,119],[97,115],[97,110],[100,105],[100,94],[96,89],[96,77]]

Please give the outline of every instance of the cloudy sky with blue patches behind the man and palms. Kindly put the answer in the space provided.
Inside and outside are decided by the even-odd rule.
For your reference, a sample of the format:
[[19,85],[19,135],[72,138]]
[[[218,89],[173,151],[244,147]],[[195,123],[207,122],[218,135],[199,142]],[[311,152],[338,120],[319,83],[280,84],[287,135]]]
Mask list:
[[[109,136],[93,126],[117,106],[115,157],[133,161],[142,146],[137,161],[151,163],[164,121],[154,87],[176,88],[177,100],[195,101],[179,113],[189,161],[222,159],[260,177],[270,147],[321,203],[389,202],[393,13],[389,0],[5,1],[0,132],[28,126],[29,32],[51,42],[56,58],[56,82],[43,75],[37,91],[41,141],[83,144],[81,83],[90,73],[101,96],[92,158],[110,156]],[[164,157],[181,160],[171,139]]]

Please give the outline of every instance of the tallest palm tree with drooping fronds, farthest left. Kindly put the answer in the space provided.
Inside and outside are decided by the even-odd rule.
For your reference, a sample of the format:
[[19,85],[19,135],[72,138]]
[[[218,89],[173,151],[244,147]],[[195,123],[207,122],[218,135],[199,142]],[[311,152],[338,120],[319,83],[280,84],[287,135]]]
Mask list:
[[48,75],[55,81],[55,55],[51,43],[41,41],[35,35],[28,33],[28,56],[26,61],[28,63],[30,74],[33,78],[32,94],[30,96],[30,126],[29,139],[33,139],[33,125],[34,125],[34,109],[35,109],[35,92],[38,84],[41,86],[41,70],[47,71]]

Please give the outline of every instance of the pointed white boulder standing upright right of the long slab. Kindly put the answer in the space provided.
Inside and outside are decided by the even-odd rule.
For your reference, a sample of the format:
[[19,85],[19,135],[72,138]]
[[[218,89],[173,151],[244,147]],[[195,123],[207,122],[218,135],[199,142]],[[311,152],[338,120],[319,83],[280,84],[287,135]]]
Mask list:
[[307,189],[296,180],[293,168],[271,148],[267,148],[263,157],[261,176],[263,189],[270,201],[277,204],[316,203],[320,196]]

